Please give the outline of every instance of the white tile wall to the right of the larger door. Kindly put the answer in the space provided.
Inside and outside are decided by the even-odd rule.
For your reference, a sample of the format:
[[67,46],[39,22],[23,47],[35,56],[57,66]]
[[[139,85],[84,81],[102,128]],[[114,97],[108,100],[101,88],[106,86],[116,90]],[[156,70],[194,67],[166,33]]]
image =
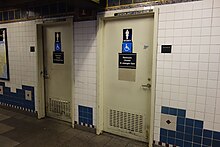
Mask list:
[[[220,131],[220,1],[158,7],[156,107],[185,109],[205,129]],[[162,44],[172,44],[172,54],[160,53]]]

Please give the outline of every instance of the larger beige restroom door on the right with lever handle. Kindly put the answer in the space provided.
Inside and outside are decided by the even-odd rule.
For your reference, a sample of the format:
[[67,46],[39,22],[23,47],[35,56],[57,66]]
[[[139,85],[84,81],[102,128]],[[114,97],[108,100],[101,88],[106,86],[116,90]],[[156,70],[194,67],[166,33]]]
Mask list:
[[[118,67],[123,29],[132,29],[136,69]],[[106,20],[104,25],[104,131],[148,141],[153,18]]]

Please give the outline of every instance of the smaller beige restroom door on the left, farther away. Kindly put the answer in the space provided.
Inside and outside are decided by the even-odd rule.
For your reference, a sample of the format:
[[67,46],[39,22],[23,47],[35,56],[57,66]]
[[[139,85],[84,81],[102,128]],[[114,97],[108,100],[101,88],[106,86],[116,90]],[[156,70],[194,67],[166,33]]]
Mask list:
[[[55,32],[59,32],[61,36],[61,51],[64,53],[63,64],[53,62],[55,40],[57,39]],[[71,23],[45,25],[43,34],[46,115],[70,122],[73,40]]]

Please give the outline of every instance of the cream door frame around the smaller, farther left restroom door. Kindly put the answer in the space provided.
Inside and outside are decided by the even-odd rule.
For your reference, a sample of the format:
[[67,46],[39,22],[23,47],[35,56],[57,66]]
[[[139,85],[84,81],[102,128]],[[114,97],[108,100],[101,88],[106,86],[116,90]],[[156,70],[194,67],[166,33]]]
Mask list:
[[38,65],[38,119],[44,118],[46,116],[46,97],[45,97],[45,79],[43,77],[44,71],[44,48],[43,48],[43,27],[49,25],[60,25],[63,23],[68,23],[71,29],[71,124],[74,127],[74,62],[73,62],[73,18],[72,17],[62,17],[62,18],[49,18],[38,21],[36,24],[36,52],[37,52],[37,65]]

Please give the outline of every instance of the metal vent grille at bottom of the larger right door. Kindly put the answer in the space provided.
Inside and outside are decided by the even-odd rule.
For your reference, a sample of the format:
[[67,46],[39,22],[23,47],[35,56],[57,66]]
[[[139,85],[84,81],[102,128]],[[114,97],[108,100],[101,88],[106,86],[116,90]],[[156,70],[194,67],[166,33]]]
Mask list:
[[109,109],[109,126],[126,132],[143,133],[143,115]]

